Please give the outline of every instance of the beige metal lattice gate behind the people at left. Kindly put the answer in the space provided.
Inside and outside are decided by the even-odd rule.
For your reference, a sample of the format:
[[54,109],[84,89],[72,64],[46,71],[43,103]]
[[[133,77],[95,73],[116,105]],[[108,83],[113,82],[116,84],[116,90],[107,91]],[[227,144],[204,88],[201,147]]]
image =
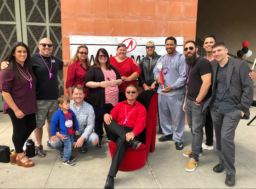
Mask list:
[[[52,54],[62,59],[60,0],[0,0],[0,60],[16,41],[37,53],[43,37],[51,39]],[[58,72],[58,81],[59,95],[64,95],[63,71]],[[0,110],[3,101],[0,98]]]

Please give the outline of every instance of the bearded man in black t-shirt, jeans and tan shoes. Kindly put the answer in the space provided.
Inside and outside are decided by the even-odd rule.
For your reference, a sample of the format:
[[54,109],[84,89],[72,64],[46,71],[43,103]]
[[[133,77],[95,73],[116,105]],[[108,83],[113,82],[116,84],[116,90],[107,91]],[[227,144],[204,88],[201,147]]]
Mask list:
[[186,112],[188,126],[193,136],[192,150],[183,156],[190,157],[186,171],[196,169],[199,156],[202,154],[203,127],[206,114],[202,114],[205,100],[210,96],[208,91],[212,80],[212,67],[210,62],[197,54],[198,47],[194,41],[187,41],[184,46],[187,70],[187,93],[183,105]]

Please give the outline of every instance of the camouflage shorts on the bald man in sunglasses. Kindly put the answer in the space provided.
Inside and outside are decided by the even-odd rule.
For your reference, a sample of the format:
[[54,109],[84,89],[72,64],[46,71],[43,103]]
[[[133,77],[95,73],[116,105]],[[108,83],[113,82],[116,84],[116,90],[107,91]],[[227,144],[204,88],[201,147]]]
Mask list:
[[58,111],[59,105],[57,100],[36,100],[38,112],[36,112],[36,128],[42,128],[45,120],[48,123],[52,121],[52,116]]

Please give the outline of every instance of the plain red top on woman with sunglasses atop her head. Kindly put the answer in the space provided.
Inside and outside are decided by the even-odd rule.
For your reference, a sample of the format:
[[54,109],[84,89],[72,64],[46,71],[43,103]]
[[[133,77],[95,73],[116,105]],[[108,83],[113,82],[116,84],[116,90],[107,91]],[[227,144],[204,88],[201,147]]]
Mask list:
[[[110,64],[113,65],[114,67],[116,67],[116,69],[121,77],[122,76],[129,77],[134,72],[137,72],[139,75],[141,75],[140,67],[138,67],[136,64],[134,64],[132,58],[130,58],[130,57],[127,57],[127,59],[125,59],[122,62],[118,62],[115,59],[115,57],[110,57]],[[126,87],[130,84],[137,86],[136,79],[134,81],[123,82],[121,85],[119,85],[119,93],[124,93]]]

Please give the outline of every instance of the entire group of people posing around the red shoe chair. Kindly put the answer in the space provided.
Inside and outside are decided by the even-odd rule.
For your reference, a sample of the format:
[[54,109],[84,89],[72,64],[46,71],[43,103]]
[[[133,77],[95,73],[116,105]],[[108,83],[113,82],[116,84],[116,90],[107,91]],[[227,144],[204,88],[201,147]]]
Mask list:
[[[160,56],[154,42],[147,41],[147,55],[138,64],[126,57],[126,45],[120,43],[115,57],[109,57],[106,49],[99,49],[91,66],[86,45],[80,45],[71,60],[62,61],[50,54],[53,45],[48,38],[40,40],[39,53],[32,55],[24,43],[14,43],[2,60],[0,72],[3,113],[10,115],[13,124],[15,150],[10,155],[11,163],[34,165],[22,149],[33,130],[37,156],[46,155],[42,127],[47,120],[47,148],[60,150],[63,164],[74,165],[73,143],[81,154],[87,152],[88,146],[102,147],[104,123],[106,141],[116,142],[105,185],[113,188],[126,149],[140,146],[139,134],[146,126],[146,109],[136,100],[139,79],[143,90],[158,93],[159,133],[164,134],[158,140],[174,140],[177,150],[184,148],[186,111],[193,140],[192,150],[183,156],[190,157],[186,171],[192,172],[202,150],[213,149],[214,126],[220,161],[213,170],[219,173],[225,169],[225,183],[234,185],[234,133],[240,118],[249,118],[255,73],[250,72],[246,61],[228,57],[226,45],[216,43],[214,35],[204,39],[206,57],[197,54],[194,41],[185,43],[185,55],[176,47],[174,37],[166,38],[167,53]],[[65,66],[69,97],[58,96],[57,74]],[[202,143],[204,126],[206,144]]]

